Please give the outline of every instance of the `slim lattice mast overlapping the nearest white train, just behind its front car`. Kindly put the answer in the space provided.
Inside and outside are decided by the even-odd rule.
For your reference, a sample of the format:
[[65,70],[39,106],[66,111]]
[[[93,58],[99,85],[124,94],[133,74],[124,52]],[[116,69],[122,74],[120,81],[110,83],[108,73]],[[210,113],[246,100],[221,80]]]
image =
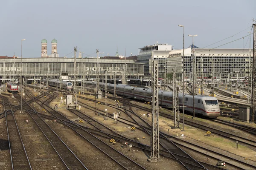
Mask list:
[[174,110],[173,121],[174,121],[174,127],[176,128],[176,127],[179,127],[180,114],[179,114],[179,96],[178,96],[179,91],[178,91],[175,71],[173,72],[173,93],[172,94],[173,94],[172,108]]

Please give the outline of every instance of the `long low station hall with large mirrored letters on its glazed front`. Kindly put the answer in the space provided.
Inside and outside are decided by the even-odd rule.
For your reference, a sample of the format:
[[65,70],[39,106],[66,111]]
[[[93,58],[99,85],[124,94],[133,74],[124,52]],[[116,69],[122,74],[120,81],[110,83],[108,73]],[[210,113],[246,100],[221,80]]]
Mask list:
[[[2,58],[0,59],[0,77],[20,76],[23,78],[49,77],[57,78],[60,75],[74,76],[74,58]],[[116,71],[117,78],[122,77],[124,65],[127,65],[128,77],[143,76],[143,63],[137,63],[133,59],[99,59],[99,74],[107,71],[107,76]],[[96,77],[97,59],[76,58],[77,77]]]

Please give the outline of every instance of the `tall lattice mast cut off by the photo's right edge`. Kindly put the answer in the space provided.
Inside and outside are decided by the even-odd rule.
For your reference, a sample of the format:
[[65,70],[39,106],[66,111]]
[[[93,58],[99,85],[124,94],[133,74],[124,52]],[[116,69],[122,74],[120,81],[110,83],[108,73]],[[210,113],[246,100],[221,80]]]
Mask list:
[[256,111],[256,23],[253,24],[252,122]]

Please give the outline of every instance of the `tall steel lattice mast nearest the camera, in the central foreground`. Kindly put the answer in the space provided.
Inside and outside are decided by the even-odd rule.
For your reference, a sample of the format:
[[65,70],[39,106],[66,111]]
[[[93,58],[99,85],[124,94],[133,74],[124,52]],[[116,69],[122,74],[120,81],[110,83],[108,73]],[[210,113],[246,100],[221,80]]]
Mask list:
[[158,61],[153,60],[152,67],[152,81],[151,81],[151,92],[152,92],[152,124],[151,124],[151,156],[148,161],[156,162],[160,159],[159,153],[159,106],[158,106]]

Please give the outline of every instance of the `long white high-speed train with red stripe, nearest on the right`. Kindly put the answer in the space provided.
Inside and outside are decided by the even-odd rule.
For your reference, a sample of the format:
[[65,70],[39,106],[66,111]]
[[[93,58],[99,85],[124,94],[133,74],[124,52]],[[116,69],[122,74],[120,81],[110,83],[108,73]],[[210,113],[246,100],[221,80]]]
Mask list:
[[[96,85],[96,82],[87,82],[88,85]],[[100,86],[105,87],[105,83],[100,82]],[[107,85],[108,91],[114,93],[114,84]],[[103,88],[104,89],[104,88]],[[136,88],[130,85],[116,85],[116,94],[126,96],[144,102],[151,102],[151,89]],[[185,112],[193,113],[193,96],[189,94],[184,95]],[[158,91],[159,105],[172,107],[172,92]],[[179,106],[183,110],[183,94],[179,93]],[[216,118],[220,116],[220,107],[216,97],[195,95],[195,114],[200,116]]]

